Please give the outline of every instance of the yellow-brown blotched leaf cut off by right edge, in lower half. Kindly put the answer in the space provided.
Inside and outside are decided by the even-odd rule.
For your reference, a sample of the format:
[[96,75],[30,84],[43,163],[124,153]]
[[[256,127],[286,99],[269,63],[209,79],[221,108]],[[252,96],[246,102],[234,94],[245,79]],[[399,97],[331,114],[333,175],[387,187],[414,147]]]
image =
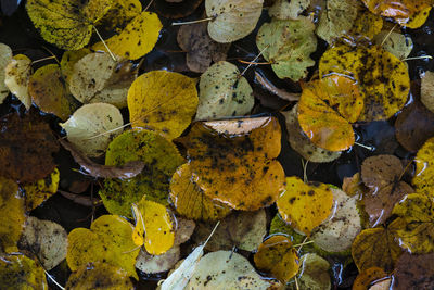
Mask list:
[[397,215],[390,225],[393,235],[403,249],[414,254],[427,254],[434,251],[434,202],[424,194],[408,194],[396,204],[393,212]]

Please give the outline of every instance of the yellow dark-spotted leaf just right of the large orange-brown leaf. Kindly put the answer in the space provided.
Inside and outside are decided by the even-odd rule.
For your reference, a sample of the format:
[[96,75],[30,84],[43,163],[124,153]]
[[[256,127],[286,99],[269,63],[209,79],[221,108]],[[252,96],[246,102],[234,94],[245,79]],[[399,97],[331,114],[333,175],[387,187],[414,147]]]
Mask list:
[[298,177],[286,177],[286,191],[280,194],[276,204],[286,223],[310,235],[329,216],[333,193],[324,184],[305,184]]

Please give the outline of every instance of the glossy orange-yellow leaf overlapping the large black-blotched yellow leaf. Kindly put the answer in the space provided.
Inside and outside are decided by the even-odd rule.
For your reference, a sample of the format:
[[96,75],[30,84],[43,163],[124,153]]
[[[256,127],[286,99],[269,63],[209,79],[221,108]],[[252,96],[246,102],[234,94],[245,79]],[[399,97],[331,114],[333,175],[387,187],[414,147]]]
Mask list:
[[303,88],[298,123],[314,144],[343,151],[355,142],[352,123],[362,109],[358,85],[350,78],[331,75]]

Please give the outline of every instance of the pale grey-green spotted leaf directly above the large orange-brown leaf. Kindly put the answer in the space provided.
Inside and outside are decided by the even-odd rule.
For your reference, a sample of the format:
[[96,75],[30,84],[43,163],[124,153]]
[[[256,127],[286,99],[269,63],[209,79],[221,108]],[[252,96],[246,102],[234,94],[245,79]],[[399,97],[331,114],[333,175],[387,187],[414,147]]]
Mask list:
[[248,114],[255,104],[252,87],[229,62],[213,64],[199,83],[196,119],[215,119]]

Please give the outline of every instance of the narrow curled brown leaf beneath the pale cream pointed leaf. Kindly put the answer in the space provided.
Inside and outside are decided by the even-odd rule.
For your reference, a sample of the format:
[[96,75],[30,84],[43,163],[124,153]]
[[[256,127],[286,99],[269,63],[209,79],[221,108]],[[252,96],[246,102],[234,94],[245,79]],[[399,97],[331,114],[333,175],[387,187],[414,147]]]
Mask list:
[[108,166],[94,163],[89,157],[81,154],[75,147],[62,139],[59,139],[60,143],[71,152],[81,168],[84,168],[90,176],[95,178],[132,178],[140,174],[144,167],[142,161],[131,161],[124,166]]

